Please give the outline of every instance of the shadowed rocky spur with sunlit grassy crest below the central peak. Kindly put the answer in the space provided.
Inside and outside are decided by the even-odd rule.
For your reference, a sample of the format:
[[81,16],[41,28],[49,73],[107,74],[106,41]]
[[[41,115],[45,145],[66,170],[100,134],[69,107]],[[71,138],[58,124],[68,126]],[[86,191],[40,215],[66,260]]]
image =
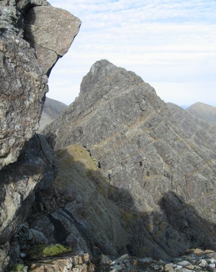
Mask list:
[[[124,190],[110,184],[80,144],[66,147],[57,156],[59,168],[53,188],[40,188],[36,193],[28,220],[30,231],[41,233],[47,244],[61,243],[91,257],[124,253],[131,238],[119,205]],[[27,253],[29,246],[31,243],[25,247]]]

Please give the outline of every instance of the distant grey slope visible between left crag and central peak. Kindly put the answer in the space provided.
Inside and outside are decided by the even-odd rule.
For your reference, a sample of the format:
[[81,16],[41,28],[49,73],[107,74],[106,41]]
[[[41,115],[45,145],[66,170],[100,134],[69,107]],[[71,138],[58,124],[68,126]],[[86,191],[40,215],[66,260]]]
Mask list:
[[67,107],[66,104],[46,97],[38,132],[40,133],[46,125],[54,121],[58,117],[60,112],[66,107]]

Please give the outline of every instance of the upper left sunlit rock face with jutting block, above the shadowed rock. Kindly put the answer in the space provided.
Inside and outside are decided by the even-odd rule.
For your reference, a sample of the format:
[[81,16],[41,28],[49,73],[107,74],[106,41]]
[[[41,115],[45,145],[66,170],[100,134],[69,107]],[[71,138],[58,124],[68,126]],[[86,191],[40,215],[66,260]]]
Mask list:
[[[40,4],[44,6],[35,7]],[[0,1],[0,169],[17,160],[26,141],[38,129],[44,95],[48,91],[47,71],[42,67],[43,57],[24,38],[26,16],[28,23],[31,23],[26,35],[34,37],[39,44],[44,40],[42,46],[50,50],[59,46],[56,51],[60,56],[68,50],[79,31],[79,19],[66,11],[52,8],[45,0]],[[37,31],[32,16],[37,27],[40,20],[43,20]],[[43,16],[47,17],[46,20]],[[52,27],[48,24],[48,19],[51,20]],[[43,27],[44,23],[50,31]],[[34,34],[31,32],[33,28]],[[64,39],[61,35],[65,35]],[[46,62],[49,72],[56,58],[58,56],[55,60]]]

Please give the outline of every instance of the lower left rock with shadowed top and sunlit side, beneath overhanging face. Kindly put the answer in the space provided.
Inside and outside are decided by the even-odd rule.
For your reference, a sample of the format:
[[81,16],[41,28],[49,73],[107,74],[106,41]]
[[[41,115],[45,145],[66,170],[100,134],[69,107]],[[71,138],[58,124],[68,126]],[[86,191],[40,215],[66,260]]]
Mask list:
[[[26,221],[35,191],[44,175],[54,179],[57,162],[42,136],[32,138],[22,157],[0,172],[0,244],[8,241]],[[45,154],[45,155],[44,155]]]

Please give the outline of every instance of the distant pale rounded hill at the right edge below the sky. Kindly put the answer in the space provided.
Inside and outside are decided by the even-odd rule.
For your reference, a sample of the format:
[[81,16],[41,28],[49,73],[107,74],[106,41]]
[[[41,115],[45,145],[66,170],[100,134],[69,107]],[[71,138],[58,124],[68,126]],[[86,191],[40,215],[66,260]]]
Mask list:
[[197,102],[186,109],[194,117],[198,117],[216,125],[216,107]]

